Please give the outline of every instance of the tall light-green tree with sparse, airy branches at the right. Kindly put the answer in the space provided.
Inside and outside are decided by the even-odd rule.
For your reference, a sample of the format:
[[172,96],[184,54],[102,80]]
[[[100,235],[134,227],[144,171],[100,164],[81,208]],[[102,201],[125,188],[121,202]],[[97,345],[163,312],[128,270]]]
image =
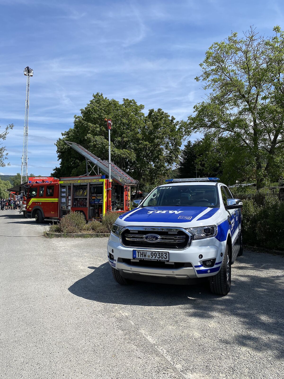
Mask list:
[[209,48],[196,78],[208,98],[189,117],[189,133],[235,138],[258,189],[284,174],[284,34],[273,31],[264,38],[250,28]]

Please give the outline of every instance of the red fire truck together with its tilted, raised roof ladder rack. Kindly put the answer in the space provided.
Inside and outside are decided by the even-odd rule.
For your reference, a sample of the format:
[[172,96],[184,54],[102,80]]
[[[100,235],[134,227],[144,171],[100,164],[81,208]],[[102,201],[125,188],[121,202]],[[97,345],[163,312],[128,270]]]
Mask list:
[[[108,173],[108,164],[82,146],[67,143],[86,158],[86,168]],[[94,171],[95,172],[95,171]],[[111,164],[111,183],[105,174],[52,178],[25,186],[26,216],[41,223],[44,219],[58,220],[70,211],[83,213],[86,220],[100,220],[107,211],[128,211],[131,207],[131,185],[137,181]],[[109,189],[111,188],[111,191]]]

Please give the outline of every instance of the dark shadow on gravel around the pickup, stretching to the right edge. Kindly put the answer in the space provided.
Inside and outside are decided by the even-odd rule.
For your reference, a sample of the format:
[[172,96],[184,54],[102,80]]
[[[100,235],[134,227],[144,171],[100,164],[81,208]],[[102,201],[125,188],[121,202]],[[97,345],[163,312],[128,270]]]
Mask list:
[[[283,280],[281,271],[279,275],[277,273],[284,269],[284,258],[271,258],[259,253],[240,257],[232,266],[231,291],[224,297],[211,294],[208,283],[181,286],[133,282],[121,286],[114,281],[108,262],[99,267],[89,267],[91,273],[70,286],[69,291],[84,299],[108,304],[178,305],[183,307],[189,319],[203,319],[203,329],[208,332],[211,328],[218,328],[228,349],[231,345],[242,345],[257,351],[270,350],[282,358]],[[271,269],[277,270],[274,271],[276,275],[269,273]],[[227,324],[226,319],[233,319],[233,324],[236,319],[236,325],[241,324],[246,333],[227,330],[227,325],[232,323]]]

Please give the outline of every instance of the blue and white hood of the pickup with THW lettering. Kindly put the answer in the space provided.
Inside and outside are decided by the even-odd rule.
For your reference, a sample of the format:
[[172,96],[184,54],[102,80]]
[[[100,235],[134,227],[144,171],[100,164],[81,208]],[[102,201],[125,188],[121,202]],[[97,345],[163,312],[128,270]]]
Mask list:
[[117,224],[186,228],[212,225],[221,213],[220,208],[208,207],[143,207],[119,216]]

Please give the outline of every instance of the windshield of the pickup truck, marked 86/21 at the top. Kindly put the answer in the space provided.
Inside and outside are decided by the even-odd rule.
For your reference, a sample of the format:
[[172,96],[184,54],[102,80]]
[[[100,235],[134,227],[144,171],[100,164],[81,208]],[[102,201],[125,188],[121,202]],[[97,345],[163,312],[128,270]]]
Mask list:
[[219,207],[217,187],[212,185],[159,186],[142,207]]

